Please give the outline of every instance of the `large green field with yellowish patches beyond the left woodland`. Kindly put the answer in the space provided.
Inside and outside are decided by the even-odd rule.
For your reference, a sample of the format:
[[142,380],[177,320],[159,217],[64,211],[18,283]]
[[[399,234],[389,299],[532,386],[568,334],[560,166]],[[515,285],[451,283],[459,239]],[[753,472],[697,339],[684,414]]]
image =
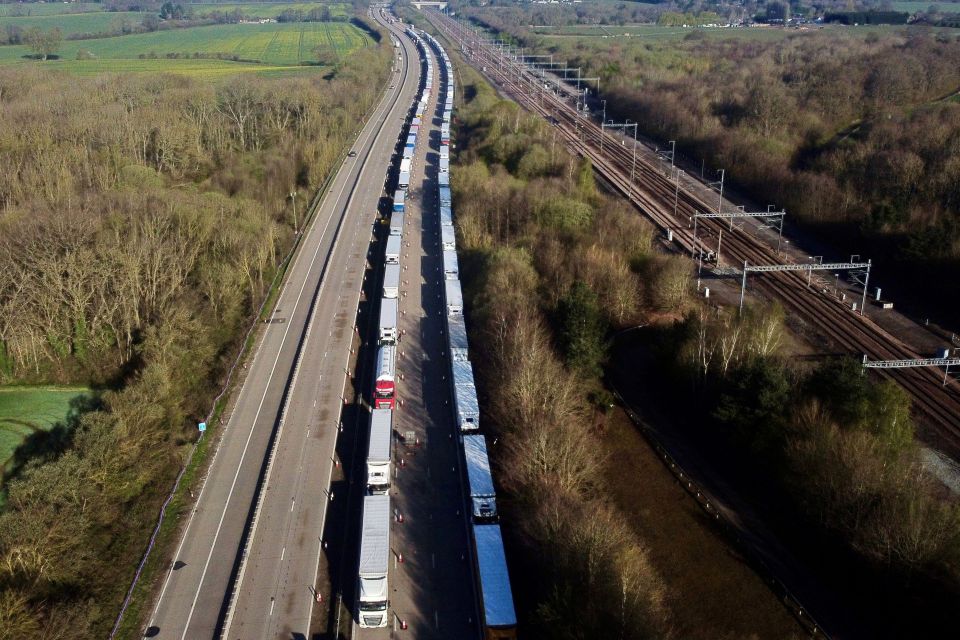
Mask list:
[[[309,69],[300,65],[316,60],[316,47],[332,48],[343,56],[370,44],[369,35],[346,22],[230,24],[64,41],[59,59],[46,62],[26,57],[30,51],[24,46],[0,47],[0,64],[39,64],[80,74],[169,71],[277,75]],[[81,49],[89,51],[94,59],[77,60]],[[168,54],[180,59],[166,59]],[[240,61],[194,58],[194,54],[236,56]]]

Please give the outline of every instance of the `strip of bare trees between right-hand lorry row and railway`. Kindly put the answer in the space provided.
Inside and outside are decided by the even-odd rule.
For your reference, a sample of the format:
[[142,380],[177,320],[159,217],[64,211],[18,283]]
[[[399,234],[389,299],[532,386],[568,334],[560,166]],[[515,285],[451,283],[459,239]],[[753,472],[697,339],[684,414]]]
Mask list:
[[521,623],[536,638],[667,637],[662,580],[605,498],[601,376],[613,332],[684,307],[688,261],[657,255],[652,227],[599,192],[555,128],[458,73],[461,278]]

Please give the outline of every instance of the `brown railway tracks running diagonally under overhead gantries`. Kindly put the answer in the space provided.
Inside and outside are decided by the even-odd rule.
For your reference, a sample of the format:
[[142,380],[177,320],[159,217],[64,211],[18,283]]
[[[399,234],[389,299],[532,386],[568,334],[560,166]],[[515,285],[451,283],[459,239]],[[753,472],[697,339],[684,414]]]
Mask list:
[[[634,167],[632,149],[619,144],[618,138],[602,132],[592,120],[578,117],[575,109],[559,96],[538,89],[542,81],[515,60],[479,41],[475,33],[463,29],[446,16],[437,13],[429,15],[452,41],[464,43],[475,66],[479,66],[503,93],[527,110],[554,122],[573,151],[589,158],[595,170],[655,224],[663,229],[671,229],[674,242],[680,247],[691,254],[695,252],[693,232],[688,221],[697,211],[712,211],[715,208],[713,205],[706,204],[682,186],[677,192],[676,184],[647,158],[638,155]],[[599,151],[601,139],[605,141],[604,154]],[[632,181],[631,172],[635,176]],[[675,198],[676,217],[673,215]],[[714,235],[727,230],[724,223],[717,219],[703,219],[700,225]],[[702,248],[702,243],[698,242],[698,245]],[[744,261],[752,265],[782,262],[772,248],[742,233],[725,234],[724,247],[725,254],[737,264]],[[916,350],[869,318],[857,315],[837,301],[810,290],[801,272],[771,272],[763,278],[756,278],[753,286],[754,290],[778,300],[788,314],[804,320],[851,354],[866,354],[876,360],[920,357]],[[880,373],[895,380],[910,394],[916,412],[930,427],[929,432],[924,434],[930,444],[954,459],[960,459],[958,384],[951,380],[944,387],[939,369],[884,369]]]

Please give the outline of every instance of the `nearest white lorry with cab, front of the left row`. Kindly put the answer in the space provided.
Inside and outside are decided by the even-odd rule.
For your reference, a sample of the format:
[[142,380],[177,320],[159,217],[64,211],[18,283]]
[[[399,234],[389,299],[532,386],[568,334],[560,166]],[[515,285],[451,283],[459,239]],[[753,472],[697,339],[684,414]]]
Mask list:
[[385,627],[390,606],[390,496],[364,496],[357,572],[357,623]]

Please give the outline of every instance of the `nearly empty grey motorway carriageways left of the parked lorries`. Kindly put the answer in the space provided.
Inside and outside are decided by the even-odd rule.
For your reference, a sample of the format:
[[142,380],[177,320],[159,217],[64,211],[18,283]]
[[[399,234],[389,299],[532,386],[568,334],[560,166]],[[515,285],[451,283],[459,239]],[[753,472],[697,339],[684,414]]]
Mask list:
[[418,79],[404,57],[358,136],[357,156],[346,159],[304,231],[170,559],[150,637],[311,634],[371,228]]

